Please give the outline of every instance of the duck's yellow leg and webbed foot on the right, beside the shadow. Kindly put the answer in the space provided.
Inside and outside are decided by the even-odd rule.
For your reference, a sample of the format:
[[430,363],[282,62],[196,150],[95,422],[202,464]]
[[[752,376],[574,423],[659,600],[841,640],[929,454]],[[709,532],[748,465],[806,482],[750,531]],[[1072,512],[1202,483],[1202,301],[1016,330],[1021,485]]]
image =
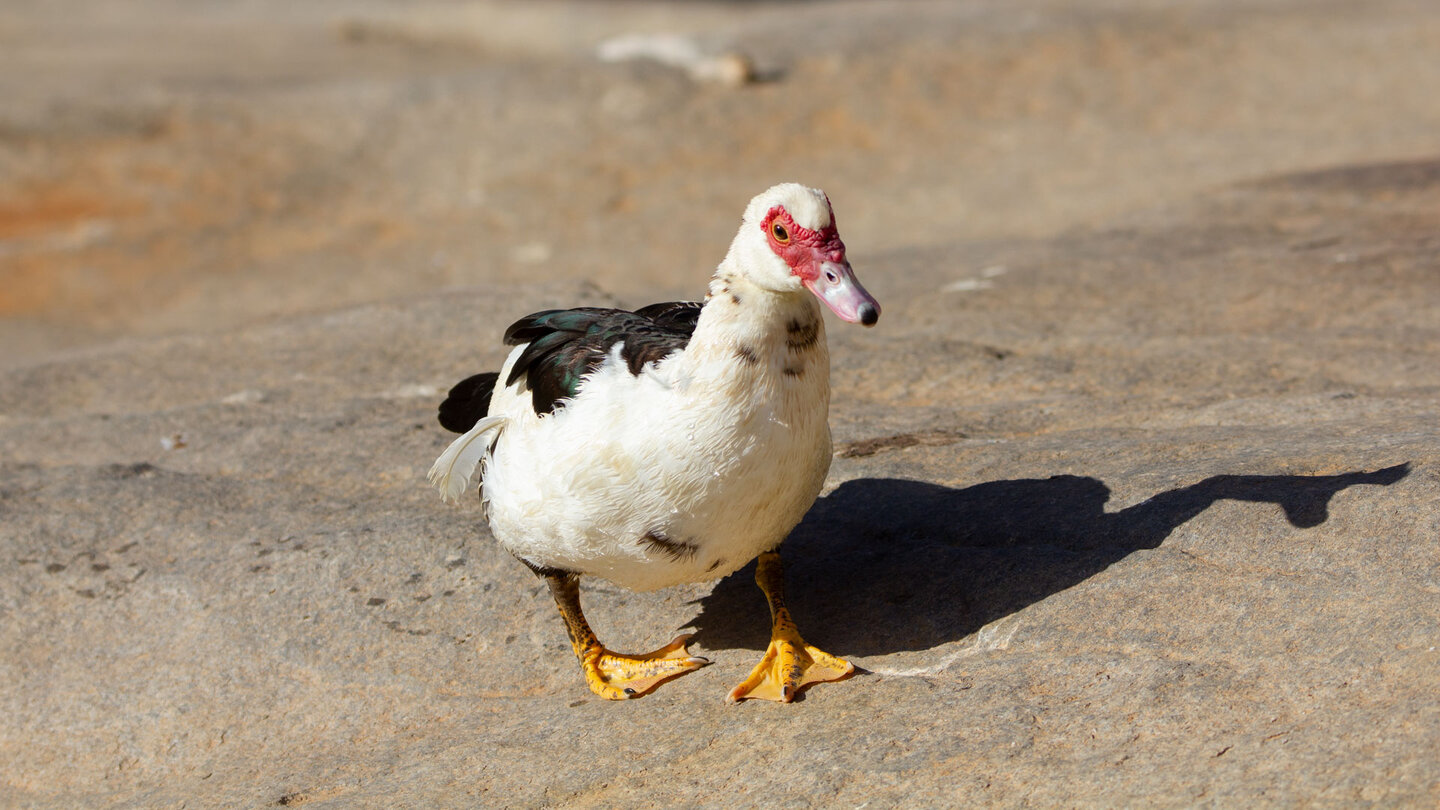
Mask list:
[[840,680],[855,672],[847,660],[812,647],[801,638],[791,611],[785,607],[785,572],[780,555],[768,551],[755,565],[755,584],[770,602],[770,646],[765,657],[739,686],[730,690],[730,702],[763,698],[789,703],[811,683]]

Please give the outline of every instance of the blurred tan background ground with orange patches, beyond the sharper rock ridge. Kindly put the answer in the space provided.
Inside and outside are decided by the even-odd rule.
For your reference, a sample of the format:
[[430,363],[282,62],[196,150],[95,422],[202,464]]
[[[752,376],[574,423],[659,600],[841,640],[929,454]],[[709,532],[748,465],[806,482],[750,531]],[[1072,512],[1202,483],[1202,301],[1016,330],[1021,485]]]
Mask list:
[[1403,0],[7,0],[0,365],[475,282],[696,297],[779,180],[870,282],[1433,157],[1437,55]]

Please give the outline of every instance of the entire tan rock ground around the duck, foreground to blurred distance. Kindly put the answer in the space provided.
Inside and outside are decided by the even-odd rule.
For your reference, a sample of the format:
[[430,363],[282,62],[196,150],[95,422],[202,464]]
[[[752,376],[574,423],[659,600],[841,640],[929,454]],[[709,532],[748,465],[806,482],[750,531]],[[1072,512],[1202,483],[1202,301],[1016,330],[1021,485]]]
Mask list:
[[[1440,801],[1440,12],[546,7],[246,6],[246,66],[148,3],[192,50],[7,97],[0,806]],[[46,14],[0,61],[112,42]],[[785,59],[801,17],[832,53]],[[770,78],[586,61],[616,19],[733,19]],[[608,643],[716,662],[595,699],[425,486],[436,401],[517,314],[700,291],[779,176],[886,307],[829,324],[837,460],[785,546],[861,673],[729,706],[749,569],[588,582]]]

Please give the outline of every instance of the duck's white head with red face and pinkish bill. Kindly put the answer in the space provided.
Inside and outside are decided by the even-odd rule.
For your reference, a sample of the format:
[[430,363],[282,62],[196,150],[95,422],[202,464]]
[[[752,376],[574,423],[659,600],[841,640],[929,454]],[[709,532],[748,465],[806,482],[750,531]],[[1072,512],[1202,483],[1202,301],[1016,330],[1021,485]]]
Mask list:
[[865,326],[880,320],[880,303],[855,280],[829,197],[819,189],[780,183],[750,200],[730,259],[762,288],[804,287],[842,320]]

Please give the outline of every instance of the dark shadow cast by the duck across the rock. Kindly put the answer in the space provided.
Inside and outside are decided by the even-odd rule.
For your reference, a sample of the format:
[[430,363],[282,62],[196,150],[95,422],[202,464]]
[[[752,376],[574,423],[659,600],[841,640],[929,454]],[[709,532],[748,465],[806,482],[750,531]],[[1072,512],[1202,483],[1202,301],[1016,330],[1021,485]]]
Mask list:
[[[1341,476],[1215,476],[1104,512],[1096,479],[991,481],[950,489],[860,479],[821,499],[785,542],[788,601],[806,640],[876,656],[963,638],[985,624],[1161,545],[1217,500],[1276,503],[1319,526],[1335,493],[1390,486],[1410,464]],[[696,641],[763,650],[769,615],[747,565],[698,601]]]

